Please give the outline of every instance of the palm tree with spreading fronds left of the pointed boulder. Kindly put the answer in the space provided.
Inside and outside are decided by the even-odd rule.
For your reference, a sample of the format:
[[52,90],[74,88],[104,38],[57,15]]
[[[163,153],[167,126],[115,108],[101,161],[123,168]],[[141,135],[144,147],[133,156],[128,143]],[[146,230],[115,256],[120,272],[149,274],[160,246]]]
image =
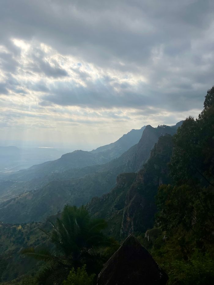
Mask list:
[[[51,222],[50,222],[51,223]],[[22,253],[46,261],[47,265],[39,274],[39,284],[61,284],[74,268],[86,264],[87,271],[98,273],[104,262],[101,248],[110,245],[110,239],[101,230],[107,223],[103,219],[92,219],[85,206],[66,205],[61,219],[57,218],[52,232],[45,232],[54,244],[54,251],[28,248]]]

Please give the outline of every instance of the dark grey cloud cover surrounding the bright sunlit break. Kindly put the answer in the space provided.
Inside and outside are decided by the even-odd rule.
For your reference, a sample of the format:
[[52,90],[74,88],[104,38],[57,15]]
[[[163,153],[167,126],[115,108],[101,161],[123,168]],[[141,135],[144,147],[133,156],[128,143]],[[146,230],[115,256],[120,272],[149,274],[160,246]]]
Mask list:
[[[89,74],[75,70],[86,87],[72,79],[50,86],[32,84],[31,90],[46,92],[43,106],[183,111],[202,108],[206,90],[214,84],[213,1],[3,0],[0,5],[1,42],[14,55],[19,49],[10,38],[37,40],[103,70],[147,79],[136,86],[109,76],[92,81]],[[30,57],[28,70],[68,77],[68,71],[57,61],[50,65],[41,50],[33,49]],[[17,69],[11,58],[4,58],[5,70]]]

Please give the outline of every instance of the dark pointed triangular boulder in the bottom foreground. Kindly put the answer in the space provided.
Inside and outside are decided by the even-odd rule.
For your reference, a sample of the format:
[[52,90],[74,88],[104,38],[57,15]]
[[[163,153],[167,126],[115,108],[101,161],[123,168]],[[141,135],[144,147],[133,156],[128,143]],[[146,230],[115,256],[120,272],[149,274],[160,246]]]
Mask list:
[[146,248],[130,235],[105,263],[97,285],[165,285],[167,280]]

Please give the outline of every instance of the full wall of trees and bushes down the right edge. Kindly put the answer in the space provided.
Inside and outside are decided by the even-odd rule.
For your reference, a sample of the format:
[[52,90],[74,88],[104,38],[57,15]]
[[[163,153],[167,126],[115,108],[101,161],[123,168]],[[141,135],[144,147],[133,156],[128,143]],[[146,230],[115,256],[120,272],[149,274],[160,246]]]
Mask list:
[[[198,119],[189,117],[173,138],[171,185],[157,194],[161,229],[150,243],[168,284],[213,284],[214,280],[214,87]],[[164,236],[164,239],[163,239]]]

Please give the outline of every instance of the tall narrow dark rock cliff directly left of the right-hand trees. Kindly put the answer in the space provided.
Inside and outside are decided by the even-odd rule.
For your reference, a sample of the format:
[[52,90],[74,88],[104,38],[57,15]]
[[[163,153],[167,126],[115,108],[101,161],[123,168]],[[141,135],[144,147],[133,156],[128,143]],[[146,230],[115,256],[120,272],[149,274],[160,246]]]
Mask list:
[[120,236],[136,231],[145,232],[153,225],[157,210],[155,195],[161,184],[170,183],[168,162],[172,153],[172,137],[161,136],[150,153],[143,169],[138,171],[135,182],[126,194]]

